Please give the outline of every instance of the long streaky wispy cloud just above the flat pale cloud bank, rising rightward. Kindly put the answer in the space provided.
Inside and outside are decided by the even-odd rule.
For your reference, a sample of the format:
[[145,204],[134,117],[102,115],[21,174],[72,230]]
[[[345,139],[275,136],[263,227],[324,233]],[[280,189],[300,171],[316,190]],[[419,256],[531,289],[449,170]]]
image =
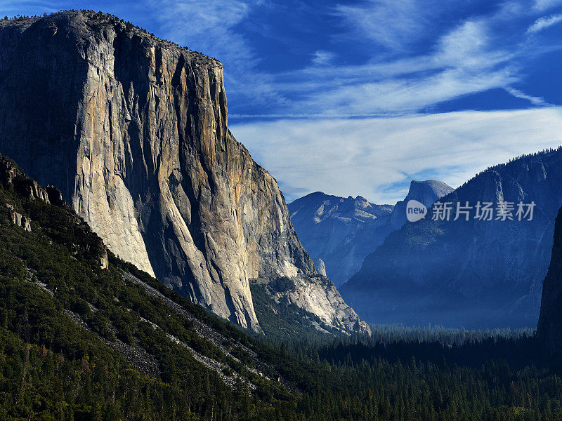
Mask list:
[[[436,40],[429,55],[282,74],[282,93],[299,92],[289,113],[317,116],[403,114],[518,81],[513,53],[490,42],[488,22],[467,20]],[[300,77],[299,77],[300,76]],[[407,76],[407,77],[406,77]]]

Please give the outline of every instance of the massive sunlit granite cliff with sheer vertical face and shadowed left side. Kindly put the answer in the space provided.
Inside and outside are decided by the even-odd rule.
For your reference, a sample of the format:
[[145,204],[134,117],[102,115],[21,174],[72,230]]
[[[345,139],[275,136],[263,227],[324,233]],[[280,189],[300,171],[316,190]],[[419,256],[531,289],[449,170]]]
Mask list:
[[259,330],[249,279],[315,274],[228,131],[217,60],[101,13],[2,21],[0,138],[115,254],[240,326]]

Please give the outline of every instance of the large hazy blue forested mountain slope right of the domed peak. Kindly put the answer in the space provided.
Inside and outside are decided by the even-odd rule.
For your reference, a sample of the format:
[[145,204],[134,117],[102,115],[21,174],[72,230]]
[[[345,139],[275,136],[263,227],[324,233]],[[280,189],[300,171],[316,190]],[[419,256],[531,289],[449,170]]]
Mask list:
[[453,209],[534,201],[532,221],[475,220],[474,210],[468,222],[453,221],[453,210],[448,222],[408,222],[365,258],[341,295],[377,323],[535,326],[561,181],[562,149],[488,168],[440,201]]

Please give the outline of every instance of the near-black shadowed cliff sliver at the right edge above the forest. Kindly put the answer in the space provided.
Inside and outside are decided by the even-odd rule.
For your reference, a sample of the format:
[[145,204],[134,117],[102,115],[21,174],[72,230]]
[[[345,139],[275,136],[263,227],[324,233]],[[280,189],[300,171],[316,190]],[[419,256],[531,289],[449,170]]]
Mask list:
[[556,216],[549,272],[542,284],[537,337],[551,351],[562,349],[562,208]]

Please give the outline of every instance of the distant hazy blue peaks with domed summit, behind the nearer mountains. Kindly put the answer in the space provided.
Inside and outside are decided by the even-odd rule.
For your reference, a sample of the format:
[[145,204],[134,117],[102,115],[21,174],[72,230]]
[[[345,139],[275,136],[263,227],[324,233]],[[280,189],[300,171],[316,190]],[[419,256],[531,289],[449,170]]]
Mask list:
[[440,181],[412,181],[406,199],[396,206],[315,192],[289,203],[289,213],[303,246],[315,261],[323,260],[325,275],[341,286],[388,234],[404,225],[408,200],[431,206],[450,192],[452,187]]

